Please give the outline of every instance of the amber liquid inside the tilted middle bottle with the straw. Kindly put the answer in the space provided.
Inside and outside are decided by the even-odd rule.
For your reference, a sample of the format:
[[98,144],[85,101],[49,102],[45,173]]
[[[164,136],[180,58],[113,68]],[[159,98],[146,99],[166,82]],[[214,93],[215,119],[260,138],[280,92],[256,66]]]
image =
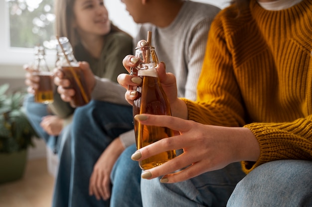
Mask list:
[[[64,72],[64,78],[67,78],[70,81],[70,86],[68,88],[73,88],[75,90],[75,95],[73,97],[72,104],[74,106],[83,106],[89,103],[91,96],[87,90],[86,81],[81,69],[79,67],[62,67],[62,71]],[[72,71],[75,72],[76,76],[80,80],[82,89],[84,90],[85,97],[83,96],[83,92],[81,91],[79,84],[76,82],[76,79]]]

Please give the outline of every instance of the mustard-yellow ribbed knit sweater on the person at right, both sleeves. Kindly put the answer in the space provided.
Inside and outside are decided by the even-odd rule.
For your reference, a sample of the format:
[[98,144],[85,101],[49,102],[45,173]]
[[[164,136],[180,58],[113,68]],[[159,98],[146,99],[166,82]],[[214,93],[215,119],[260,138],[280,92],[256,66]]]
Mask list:
[[259,141],[248,173],[279,159],[312,160],[312,0],[281,11],[222,10],[211,25],[198,103],[183,99],[188,118],[244,126]]

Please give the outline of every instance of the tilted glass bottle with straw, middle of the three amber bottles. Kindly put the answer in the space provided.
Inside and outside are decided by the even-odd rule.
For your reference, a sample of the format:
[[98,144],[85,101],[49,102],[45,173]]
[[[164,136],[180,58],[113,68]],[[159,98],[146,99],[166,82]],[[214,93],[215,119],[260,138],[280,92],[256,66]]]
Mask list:
[[86,87],[83,72],[74,56],[73,48],[68,41],[68,38],[60,37],[58,38],[58,43],[58,61],[56,62],[56,66],[61,67],[61,70],[64,73],[64,78],[69,79],[70,86],[68,88],[73,88],[75,90],[71,105],[75,107],[83,106],[89,103],[91,99],[90,92],[88,92]]

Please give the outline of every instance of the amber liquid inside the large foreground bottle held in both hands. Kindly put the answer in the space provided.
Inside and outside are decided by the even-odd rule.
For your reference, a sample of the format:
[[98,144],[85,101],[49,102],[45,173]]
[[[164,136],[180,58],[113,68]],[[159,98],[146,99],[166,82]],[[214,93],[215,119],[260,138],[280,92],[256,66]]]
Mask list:
[[[134,101],[133,115],[135,116],[137,114],[143,113],[155,115],[171,115],[169,102],[160,86],[158,77],[141,77],[143,78],[143,85],[137,88],[137,91],[141,96]],[[146,126],[140,124],[136,120],[134,120],[134,123],[138,149],[154,143],[162,138],[168,138],[173,136],[173,131],[169,128]],[[175,150],[170,150],[154,155],[148,159],[144,159],[140,161],[139,164],[143,170],[147,170],[161,165],[166,161],[174,158],[175,156]]]

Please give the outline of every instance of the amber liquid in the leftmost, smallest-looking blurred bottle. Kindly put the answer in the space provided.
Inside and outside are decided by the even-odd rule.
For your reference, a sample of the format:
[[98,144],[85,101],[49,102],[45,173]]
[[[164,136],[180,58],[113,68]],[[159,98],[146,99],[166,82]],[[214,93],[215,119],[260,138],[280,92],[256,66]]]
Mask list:
[[34,100],[38,103],[53,102],[53,76],[47,73],[38,73],[39,88],[35,91]]

